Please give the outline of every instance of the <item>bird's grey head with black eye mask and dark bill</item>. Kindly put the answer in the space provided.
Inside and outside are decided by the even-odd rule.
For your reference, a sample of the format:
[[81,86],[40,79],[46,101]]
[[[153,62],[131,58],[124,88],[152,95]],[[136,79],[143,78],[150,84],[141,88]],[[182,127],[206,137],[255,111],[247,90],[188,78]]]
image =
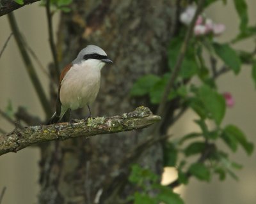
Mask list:
[[108,55],[102,48],[96,45],[88,45],[86,48],[83,48],[77,55],[76,59],[72,61],[72,64],[80,64],[81,62],[94,59],[104,63],[112,63],[108,58]]

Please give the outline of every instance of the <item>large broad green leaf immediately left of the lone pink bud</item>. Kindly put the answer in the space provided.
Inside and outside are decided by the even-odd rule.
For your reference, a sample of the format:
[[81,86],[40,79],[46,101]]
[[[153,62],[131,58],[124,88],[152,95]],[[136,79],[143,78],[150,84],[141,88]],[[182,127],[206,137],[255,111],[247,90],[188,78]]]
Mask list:
[[207,85],[202,85],[198,89],[198,97],[204,104],[205,109],[210,113],[209,117],[214,119],[216,124],[220,125],[226,111],[226,103],[223,96]]

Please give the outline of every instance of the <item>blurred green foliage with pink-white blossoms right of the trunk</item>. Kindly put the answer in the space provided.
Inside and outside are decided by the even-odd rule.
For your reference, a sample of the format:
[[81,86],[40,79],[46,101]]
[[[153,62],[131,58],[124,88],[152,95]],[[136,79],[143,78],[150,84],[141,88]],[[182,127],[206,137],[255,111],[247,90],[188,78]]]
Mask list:
[[[206,1],[204,9],[214,2],[216,1]],[[197,3],[197,1],[193,3]],[[131,89],[132,96],[147,96],[152,104],[161,103],[168,78],[172,75],[173,68],[181,52],[182,43],[184,43],[186,24],[189,25],[193,15],[195,15],[196,4],[193,3],[183,4],[184,11],[180,14],[180,21],[183,20],[183,27],[179,27],[177,35],[170,39],[168,45],[168,68],[170,71],[163,76],[149,74],[139,78]],[[226,3],[227,1],[223,1],[224,6]],[[243,148],[248,156],[253,152],[253,143],[248,141],[239,127],[234,124],[225,126],[221,124],[225,117],[228,99],[225,98],[225,94],[218,91],[216,78],[228,71],[239,75],[241,66],[249,64],[252,69],[252,80],[256,85],[256,49],[248,52],[233,48],[236,43],[247,38],[255,38],[256,26],[248,25],[246,1],[234,0],[234,4],[240,18],[239,34],[237,34],[236,38],[225,43],[218,42],[218,36],[225,32],[224,25],[220,32],[214,34],[214,31],[212,31],[214,23],[211,18],[205,16],[204,11],[197,17],[194,33],[189,41],[184,61],[180,66],[179,75],[175,78],[174,88],[168,94],[169,101],[179,98],[182,110],[190,108],[198,115],[199,119],[194,120],[194,122],[201,130],[200,132],[184,135],[179,139],[170,139],[165,144],[164,163],[166,166],[177,168],[179,172],[178,182],[180,184],[188,184],[189,177],[210,182],[214,174],[218,175],[220,180],[225,180],[227,175],[233,179],[238,179],[236,170],[240,170],[243,166],[237,163],[239,161],[229,159],[228,152],[223,151],[217,144],[218,140],[224,142],[232,152],[236,152],[238,147]],[[182,15],[186,19],[182,19]],[[184,15],[187,16],[184,17]],[[191,16],[189,17],[189,15]],[[209,59],[210,63],[205,62],[207,59]],[[223,63],[220,68],[216,66],[217,59],[220,59]],[[196,80],[193,80],[194,78]],[[209,124],[211,124],[211,128]],[[212,126],[212,124],[214,125]],[[201,156],[198,160],[192,163],[189,161],[188,163],[188,157],[194,155]],[[141,170],[138,166],[134,166],[130,177],[131,182],[137,182],[138,186],[141,186],[143,179],[150,180],[152,186],[154,186],[152,174]],[[143,203],[142,200],[147,200],[145,203],[159,203],[159,201],[164,203],[183,203],[176,197],[172,198],[173,194],[170,194],[170,192],[166,194],[168,191],[164,187],[160,188],[159,191],[160,193],[157,196],[150,197],[145,194],[147,190],[143,189],[143,193],[140,196],[138,196],[138,193],[134,194],[135,203]],[[166,197],[161,198],[162,194]]]

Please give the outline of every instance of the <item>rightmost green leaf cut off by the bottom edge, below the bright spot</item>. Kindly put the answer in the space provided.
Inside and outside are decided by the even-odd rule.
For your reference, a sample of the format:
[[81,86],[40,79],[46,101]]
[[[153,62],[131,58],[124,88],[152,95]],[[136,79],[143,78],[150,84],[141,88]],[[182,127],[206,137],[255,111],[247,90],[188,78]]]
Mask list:
[[179,194],[173,193],[169,187],[161,186],[159,190],[160,193],[157,195],[159,202],[164,202],[165,204],[184,204]]

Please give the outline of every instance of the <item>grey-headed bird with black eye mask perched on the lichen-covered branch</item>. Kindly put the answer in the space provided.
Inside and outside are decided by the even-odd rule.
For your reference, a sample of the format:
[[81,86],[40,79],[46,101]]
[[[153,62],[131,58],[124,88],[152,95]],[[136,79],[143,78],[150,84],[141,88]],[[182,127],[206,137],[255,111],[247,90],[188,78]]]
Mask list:
[[100,70],[106,63],[112,63],[106,52],[95,45],[88,45],[68,64],[60,75],[56,112],[49,124],[60,122],[68,109],[76,110],[90,106],[100,89]]

